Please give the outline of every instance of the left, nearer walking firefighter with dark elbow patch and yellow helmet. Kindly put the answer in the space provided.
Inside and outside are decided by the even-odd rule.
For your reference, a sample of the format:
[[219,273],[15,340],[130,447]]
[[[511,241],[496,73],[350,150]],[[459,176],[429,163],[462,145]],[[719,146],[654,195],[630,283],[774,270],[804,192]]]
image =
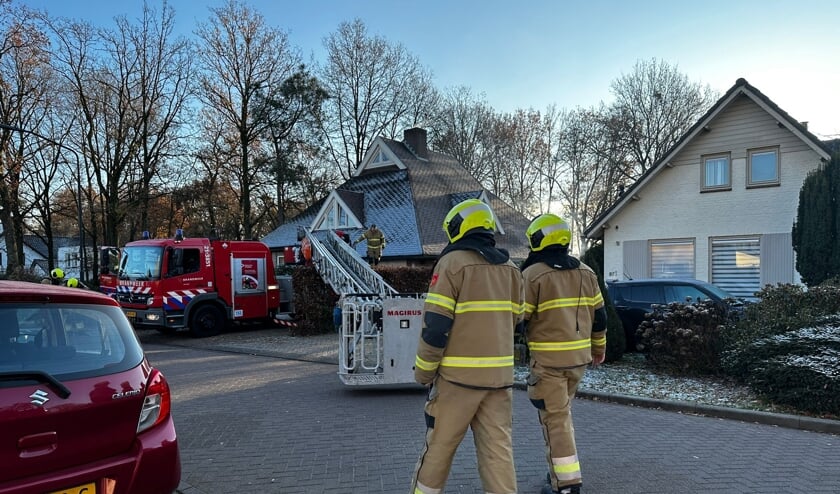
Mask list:
[[412,494],[444,488],[467,428],[486,492],[516,492],[511,445],[513,335],[522,318],[522,275],[495,246],[496,222],[478,199],[457,204],[443,229],[449,244],[432,271],[415,358],[428,386],[425,444]]

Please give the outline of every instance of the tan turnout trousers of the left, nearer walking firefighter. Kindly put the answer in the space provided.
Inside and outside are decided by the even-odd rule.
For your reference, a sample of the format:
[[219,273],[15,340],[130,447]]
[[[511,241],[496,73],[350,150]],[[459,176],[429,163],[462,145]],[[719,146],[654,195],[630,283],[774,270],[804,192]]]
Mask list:
[[452,458],[472,428],[478,474],[484,491],[516,493],[511,422],[512,388],[478,390],[437,377],[426,401],[426,444],[411,482],[412,494],[439,494]]

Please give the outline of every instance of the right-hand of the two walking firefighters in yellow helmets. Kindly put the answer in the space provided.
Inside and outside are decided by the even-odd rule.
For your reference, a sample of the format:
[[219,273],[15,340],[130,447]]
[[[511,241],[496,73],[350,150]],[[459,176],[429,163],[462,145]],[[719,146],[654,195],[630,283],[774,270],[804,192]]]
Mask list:
[[530,351],[528,398],[537,408],[549,473],[542,494],[578,494],[582,484],[572,399],[586,366],[604,361],[607,313],[598,278],[569,255],[569,225],[553,214],[525,232],[525,336]]

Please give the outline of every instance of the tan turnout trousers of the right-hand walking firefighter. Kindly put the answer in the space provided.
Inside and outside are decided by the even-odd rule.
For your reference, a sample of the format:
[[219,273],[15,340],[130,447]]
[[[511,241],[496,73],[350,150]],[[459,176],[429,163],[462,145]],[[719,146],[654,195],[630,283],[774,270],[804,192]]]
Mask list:
[[572,399],[586,366],[552,369],[532,361],[528,398],[537,407],[545,439],[551,487],[581,483],[580,462],[572,424]]

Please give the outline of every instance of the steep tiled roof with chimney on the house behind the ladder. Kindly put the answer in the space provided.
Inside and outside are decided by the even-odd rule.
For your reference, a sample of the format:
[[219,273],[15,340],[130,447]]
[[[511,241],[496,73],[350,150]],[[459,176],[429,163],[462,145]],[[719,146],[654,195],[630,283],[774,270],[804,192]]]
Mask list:
[[[424,149],[425,142],[418,147],[423,149],[415,153],[406,142],[375,139],[356,173],[330,194],[340,196],[365,226],[376,224],[382,229],[387,239],[383,256],[437,256],[448,243],[442,228],[446,213],[463,199],[482,198],[498,219],[497,245],[508,249],[514,258],[526,257],[529,220],[486,191],[451,156]],[[372,160],[383,154],[389,160],[372,165]],[[298,226],[312,227],[323,205],[323,201],[313,204],[262,241],[275,249],[295,245]],[[362,232],[360,228],[342,230],[353,239]],[[363,244],[356,248],[363,253]]]

